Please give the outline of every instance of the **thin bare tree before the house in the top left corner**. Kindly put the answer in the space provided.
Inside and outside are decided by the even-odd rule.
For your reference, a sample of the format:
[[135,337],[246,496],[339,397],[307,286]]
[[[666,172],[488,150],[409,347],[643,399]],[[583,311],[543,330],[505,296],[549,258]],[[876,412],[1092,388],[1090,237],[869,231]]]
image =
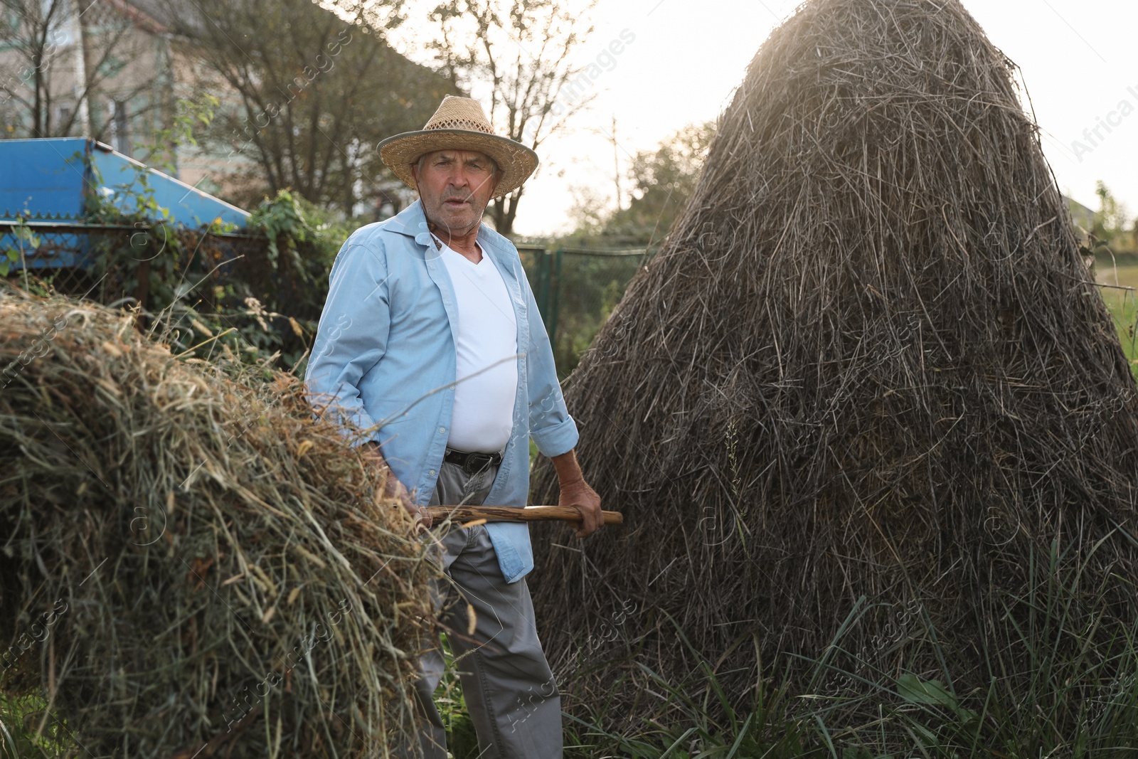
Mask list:
[[[5,137],[112,141],[168,105],[149,97],[170,61],[160,36],[155,43],[160,24],[146,14],[98,0],[0,0],[0,14]],[[114,105],[97,101],[100,94]]]

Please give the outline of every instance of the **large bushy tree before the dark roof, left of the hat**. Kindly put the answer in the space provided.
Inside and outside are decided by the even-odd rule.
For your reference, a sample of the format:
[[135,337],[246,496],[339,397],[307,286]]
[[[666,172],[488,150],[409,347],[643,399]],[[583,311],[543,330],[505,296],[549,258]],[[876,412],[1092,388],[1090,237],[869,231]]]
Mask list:
[[201,61],[197,89],[222,93],[199,140],[228,150],[231,178],[247,175],[242,200],[291,188],[346,215],[394,200],[376,145],[419,129],[455,92],[384,40],[397,5],[196,0],[182,8],[180,31]]

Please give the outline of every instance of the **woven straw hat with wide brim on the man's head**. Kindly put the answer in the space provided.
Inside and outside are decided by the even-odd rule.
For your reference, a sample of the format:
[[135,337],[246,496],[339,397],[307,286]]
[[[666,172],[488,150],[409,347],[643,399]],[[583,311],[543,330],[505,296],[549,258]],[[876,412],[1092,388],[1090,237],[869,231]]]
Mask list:
[[379,156],[407,187],[415,188],[411,165],[434,150],[478,150],[502,170],[495,198],[512,192],[537,168],[537,154],[520,142],[498,137],[490,129],[483,104],[473,98],[446,96],[438,110],[418,132],[403,132],[379,143]]

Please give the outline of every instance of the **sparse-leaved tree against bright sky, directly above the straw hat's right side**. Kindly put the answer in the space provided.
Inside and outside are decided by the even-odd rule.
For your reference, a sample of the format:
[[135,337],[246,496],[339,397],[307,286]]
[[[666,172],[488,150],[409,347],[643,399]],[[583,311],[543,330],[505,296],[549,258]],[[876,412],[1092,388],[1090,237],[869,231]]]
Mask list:
[[[485,94],[498,134],[537,150],[593,96],[591,68],[572,53],[593,27],[596,0],[447,0],[431,13],[438,59],[459,86]],[[575,6],[570,9],[570,6]],[[485,92],[484,92],[485,91]],[[523,188],[490,204],[502,234],[513,233]]]

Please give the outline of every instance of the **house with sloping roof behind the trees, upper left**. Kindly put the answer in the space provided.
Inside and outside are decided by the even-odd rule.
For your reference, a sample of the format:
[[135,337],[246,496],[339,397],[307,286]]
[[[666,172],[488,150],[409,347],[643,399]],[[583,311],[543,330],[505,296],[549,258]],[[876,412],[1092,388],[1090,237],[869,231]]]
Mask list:
[[[418,129],[453,84],[311,0],[266,7],[297,27],[340,30],[327,50],[315,48],[324,66],[308,60],[320,53],[278,44],[267,26],[238,44],[230,24],[206,15],[251,7],[6,0],[0,138],[93,138],[241,206],[291,188],[352,215],[397,212],[409,198],[372,148],[386,134]],[[226,50],[231,42],[236,49]],[[247,65],[273,55],[283,65]]]

